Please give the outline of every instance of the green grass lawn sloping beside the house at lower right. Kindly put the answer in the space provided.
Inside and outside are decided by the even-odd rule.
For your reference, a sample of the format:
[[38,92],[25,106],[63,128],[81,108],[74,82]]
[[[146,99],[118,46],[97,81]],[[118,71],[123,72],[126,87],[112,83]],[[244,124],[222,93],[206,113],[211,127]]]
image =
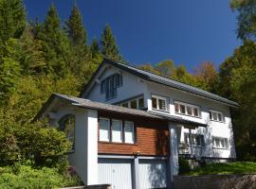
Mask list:
[[220,175],[220,174],[256,174],[256,163],[210,163],[193,169],[189,176],[197,175]]

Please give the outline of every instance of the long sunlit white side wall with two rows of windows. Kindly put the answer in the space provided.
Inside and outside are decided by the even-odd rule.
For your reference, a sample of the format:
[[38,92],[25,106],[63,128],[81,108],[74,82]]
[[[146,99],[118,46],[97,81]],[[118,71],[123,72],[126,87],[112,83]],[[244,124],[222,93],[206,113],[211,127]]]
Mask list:
[[[187,120],[192,120],[198,123],[208,124],[207,128],[199,127],[192,130],[192,133],[201,133],[205,136],[206,146],[204,149],[203,156],[208,157],[220,157],[220,158],[235,158],[233,132],[231,125],[231,118],[229,112],[229,106],[221,104],[210,99],[202,98],[186,92],[181,92],[173,88],[165,87],[155,83],[148,83],[148,108],[152,111],[151,94],[159,94],[169,98],[169,109],[170,112],[167,114],[180,116]],[[187,115],[176,114],[174,112],[174,101],[181,101],[192,105],[197,105],[201,108],[201,117],[196,118]],[[216,110],[223,112],[225,116],[225,123],[210,121],[210,110]],[[183,140],[184,132],[189,133],[189,129],[181,129],[181,141]],[[229,149],[213,149],[211,138],[212,136],[219,136],[228,138]]]

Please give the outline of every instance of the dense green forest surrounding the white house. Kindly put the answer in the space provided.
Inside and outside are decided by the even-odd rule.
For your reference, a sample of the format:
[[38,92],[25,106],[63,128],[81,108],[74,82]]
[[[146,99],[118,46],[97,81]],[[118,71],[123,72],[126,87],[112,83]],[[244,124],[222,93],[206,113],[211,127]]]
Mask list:
[[[228,59],[215,62],[219,67],[210,60],[192,73],[173,60],[137,67],[237,101],[239,109],[231,110],[237,159],[255,162],[256,1],[232,0],[230,9],[238,15],[236,34],[243,43]],[[23,171],[39,180],[51,175],[50,186],[79,182],[66,161],[70,144],[64,133],[45,121],[31,120],[50,94],[79,95],[103,57],[129,63],[121,56],[111,26],[88,43],[76,5],[62,21],[52,4],[41,22],[27,20],[22,0],[0,0],[0,28],[0,172],[5,173],[0,188],[9,186],[1,185],[7,184],[3,180],[25,184],[27,175],[18,174]]]

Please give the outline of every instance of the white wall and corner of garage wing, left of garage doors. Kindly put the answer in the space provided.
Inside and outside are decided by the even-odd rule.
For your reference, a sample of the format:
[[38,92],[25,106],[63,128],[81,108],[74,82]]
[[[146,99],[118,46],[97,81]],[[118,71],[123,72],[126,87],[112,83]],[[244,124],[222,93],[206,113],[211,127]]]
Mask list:
[[68,154],[68,160],[75,166],[85,185],[98,184],[98,112],[60,106],[56,112],[55,125],[68,113],[76,117],[75,149]]

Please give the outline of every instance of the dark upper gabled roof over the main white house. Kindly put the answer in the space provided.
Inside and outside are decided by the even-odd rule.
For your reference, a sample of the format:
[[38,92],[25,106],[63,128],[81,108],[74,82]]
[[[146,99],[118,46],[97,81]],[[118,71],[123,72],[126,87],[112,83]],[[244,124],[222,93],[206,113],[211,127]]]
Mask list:
[[[101,66],[105,63],[110,64],[114,67],[119,68],[120,70],[124,70],[124,71],[126,71],[126,72],[128,72],[132,75],[135,75],[137,77],[140,77],[140,78],[148,80],[148,81],[152,81],[152,82],[155,82],[155,83],[158,83],[158,84],[162,84],[162,85],[165,85],[165,86],[168,86],[168,87],[172,87],[172,88],[180,90],[180,91],[188,92],[188,93],[191,93],[191,94],[196,94],[196,95],[201,96],[201,97],[205,97],[205,98],[209,98],[211,100],[215,100],[215,101],[218,101],[218,102],[221,102],[221,103],[225,103],[225,104],[229,105],[230,107],[238,107],[239,106],[239,104],[237,102],[231,101],[231,100],[229,100],[225,97],[222,97],[220,95],[211,94],[210,92],[207,92],[205,90],[202,90],[202,89],[199,89],[199,88],[196,88],[196,87],[192,87],[191,85],[176,81],[176,80],[174,80],[172,78],[169,78],[169,77],[161,77],[161,76],[155,75],[151,72],[140,70],[135,66],[131,66],[131,65],[128,65],[128,64],[123,64],[119,61],[109,60],[109,59],[104,59],[101,63]],[[101,68],[101,66],[100,66],[100,68]],[[98,69],[98,71],[100,70],[100,68]],[[82,91],[82,94],[85,93],[86,90],[89,90],[89,89],[87,89],[87,87],[95,79],[95,77],[97,76],[98,71],[91,78],[88,85],[85,86],[85,88]]]

